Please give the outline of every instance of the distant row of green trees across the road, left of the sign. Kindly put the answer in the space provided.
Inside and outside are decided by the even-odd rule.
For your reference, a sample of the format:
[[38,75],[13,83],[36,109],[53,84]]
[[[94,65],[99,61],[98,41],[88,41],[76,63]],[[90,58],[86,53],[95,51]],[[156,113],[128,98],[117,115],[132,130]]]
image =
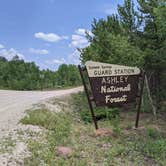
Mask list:
[[62,64],[57,71],[40,70],[34,62],[25,62],[16,55],[8,61],[0,57],[0,88],[40,90],[78,86],[81,80],[75,65]]

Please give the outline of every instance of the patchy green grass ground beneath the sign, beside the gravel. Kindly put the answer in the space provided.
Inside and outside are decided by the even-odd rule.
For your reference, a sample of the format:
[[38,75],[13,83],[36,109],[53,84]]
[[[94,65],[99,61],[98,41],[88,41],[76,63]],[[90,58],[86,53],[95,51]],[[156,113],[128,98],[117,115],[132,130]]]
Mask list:
[[[77,111],[60,113],[49,110],[30,111],[21,122],[44,127],[47,132],[38,140],[29,140],[28,148],[32,156],[25,159],[25,165],[165,166],[164,117],[156,119],[151,114],[145,113],[140,118],[140,126],[143,127],[134,130],[132,127],[135,115],[133,111],[121,112],[118,118],[100,120],[99,126],[112,129],[114,136],[97,137],[93,123],[85,123]],[[74,153],[69,158],[59,156],[56,153],[58,146],[71,147]]]

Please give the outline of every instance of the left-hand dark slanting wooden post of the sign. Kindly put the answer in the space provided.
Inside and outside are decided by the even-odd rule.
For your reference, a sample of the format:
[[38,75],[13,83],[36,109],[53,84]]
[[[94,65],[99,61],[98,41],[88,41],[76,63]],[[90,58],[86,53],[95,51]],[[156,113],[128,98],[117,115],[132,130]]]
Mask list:
[[87,96],[87,99],[88,99],[88,104],[89,104],[89,108],[90,108],[90,111],[91,111],[91,114],[92,114],[92,118],[93,118],[93,121],[94,121],[94,124],[95,124],[95,129],[97,130],[98,129],[97,120],[96,120],[96,117],[95,117],[95,114],[94,114],[94,111],[93,111],[93,106],[92,106],[92,103],[91,103],[90,95],[88,93],[88,88],[87,88],[85,80],[84,80],[84,76],[83,76],[83,73],[82,73],[82,68],[81,68],[80,65],[78,65],[78,68],[79,68],[79,71],[80,71],[82,83],[84,85],[85,93],[86,93],[86,96]]

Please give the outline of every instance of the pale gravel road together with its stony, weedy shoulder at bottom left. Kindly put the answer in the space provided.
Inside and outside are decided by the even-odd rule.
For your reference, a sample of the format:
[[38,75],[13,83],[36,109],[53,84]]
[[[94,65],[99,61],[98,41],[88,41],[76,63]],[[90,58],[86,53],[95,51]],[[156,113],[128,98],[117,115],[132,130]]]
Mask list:
[[[51,98],[59,98],[82,91],[82,87],[57,91],[9,91],[0,90],[0,166],[23,166],[24,158],[31,155],[27,148],[29,139],[38,139],[46,129],[19,124],[27,109],[46,108],[59,112],[65,103],[55,104]],[[5,151],[2,146],[9,142]],[[7,143],[6,143],[7,144]],[[14,146],[13,146],[14,145]],[[8,150],[10,149],[10,150]]]

